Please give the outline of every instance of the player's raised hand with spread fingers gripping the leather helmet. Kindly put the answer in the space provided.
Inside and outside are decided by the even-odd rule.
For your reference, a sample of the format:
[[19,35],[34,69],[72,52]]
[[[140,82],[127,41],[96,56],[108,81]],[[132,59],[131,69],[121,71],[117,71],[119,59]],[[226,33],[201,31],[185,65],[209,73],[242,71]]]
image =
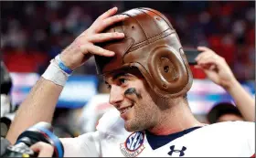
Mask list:
[[116,15],[117,7],[113,7],[101,16],[83,33],[80,34],[66,49],[64,49],[60,58],[65,65],[71,69],[80,67],[91,55],[100,55],[112,57],[114,52],[95,46],[94,43],[105,42],[113,39],[121,39],[123,33],[101,33],[108,26],[122,21],[126,16]]

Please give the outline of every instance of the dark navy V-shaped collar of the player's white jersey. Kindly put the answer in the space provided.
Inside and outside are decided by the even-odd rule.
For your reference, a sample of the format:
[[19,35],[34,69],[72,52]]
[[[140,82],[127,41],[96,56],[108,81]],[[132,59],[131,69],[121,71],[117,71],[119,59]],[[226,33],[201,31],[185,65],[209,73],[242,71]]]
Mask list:
[[169,135],[154,135],[148,131],[145,131],[145,134],[146,134],[148,143],[150,144],[152,149],[155,150],[161,146],[164,146],[166,143],[172,142],[177,138],[184,136],[188,132],[193,132],[194,130],[197,130],[200,127],[202,126],[192,127],[182,132],[176,132]]

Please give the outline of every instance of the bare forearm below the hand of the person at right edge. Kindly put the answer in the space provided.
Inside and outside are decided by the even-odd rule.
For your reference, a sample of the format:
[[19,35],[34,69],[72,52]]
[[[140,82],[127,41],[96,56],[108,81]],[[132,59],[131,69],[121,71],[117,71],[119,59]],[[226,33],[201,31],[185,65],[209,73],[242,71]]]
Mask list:
[[234,80],[226,90],[235,101],[245,121],[255,121],[255,100],[242,88],[239,81]]

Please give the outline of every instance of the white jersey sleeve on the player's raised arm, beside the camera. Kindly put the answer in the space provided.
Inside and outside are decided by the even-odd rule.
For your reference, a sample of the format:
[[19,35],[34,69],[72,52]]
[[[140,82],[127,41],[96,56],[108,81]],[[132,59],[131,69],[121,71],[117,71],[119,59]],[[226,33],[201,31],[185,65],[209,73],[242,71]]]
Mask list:
[[64,157],[100,157],[99,132],[88,132],[76,138],[61,138]]

